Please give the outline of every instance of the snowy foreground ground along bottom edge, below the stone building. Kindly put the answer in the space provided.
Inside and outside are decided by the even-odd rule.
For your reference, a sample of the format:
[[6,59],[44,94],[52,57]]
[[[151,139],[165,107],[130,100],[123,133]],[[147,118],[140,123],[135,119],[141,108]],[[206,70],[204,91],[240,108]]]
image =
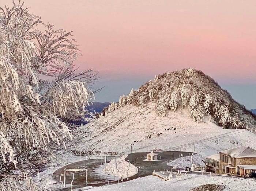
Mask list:
[[121,190],[121,191],[189,191],[191,188],[203,184],[223,184],[226,191],[249,191],[255,190],[256,180],[229,178],[225,176],[209,176],[209,175],[181,175],[171,180],[164,181],[156,176],[146,176],[143,178],[133,179],[128,182],[95,187],[91,191],[101,190]]

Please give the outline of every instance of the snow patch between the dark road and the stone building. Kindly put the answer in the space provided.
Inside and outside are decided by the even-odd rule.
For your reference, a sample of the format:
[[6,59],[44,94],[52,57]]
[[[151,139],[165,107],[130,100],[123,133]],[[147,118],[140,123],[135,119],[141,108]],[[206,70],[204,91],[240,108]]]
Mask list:
[[[183,158],[183,166],[182,166],[182,158]],[[199,154],[192,156],[193,164],[204,166],[203,160],[204,160],[203,156]],[[170,163],[168,163],[168,165],[174,168],[191,167],[191,156],[180,157],[174,161],[171,161]]]

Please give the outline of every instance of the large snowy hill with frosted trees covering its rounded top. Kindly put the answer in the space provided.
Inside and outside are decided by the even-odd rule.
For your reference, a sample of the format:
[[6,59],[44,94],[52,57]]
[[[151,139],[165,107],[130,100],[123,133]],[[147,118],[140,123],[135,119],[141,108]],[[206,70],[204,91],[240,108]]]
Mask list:
[[[159,75],[122,96],[118,104],[110,105],[94,122],[76,129],[74,140],[78,147],[74,150],[100,152],[107,145],[108,152],[118,153],[120,145],[126,153],[131,152],[131,147],[132,152],[155,147],[173,150],[230,133],[195,144],[195,152],[206,156],[239,145],[256,147],[256,135],[252,133],[255,124],[252,114],[213,79],[200,71],[185,69]],[[193,144],[175,149],[194,151]]]

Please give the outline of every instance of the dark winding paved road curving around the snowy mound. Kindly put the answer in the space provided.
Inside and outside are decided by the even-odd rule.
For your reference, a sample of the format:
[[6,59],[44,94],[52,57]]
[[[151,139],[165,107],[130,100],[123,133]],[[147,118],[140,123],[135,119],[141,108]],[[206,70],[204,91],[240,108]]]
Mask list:
[[[166,151],[159,153],[161,155],[161,160],[159,161],[144,161],[147,158],[148,152],[143,153],[131,153],[125,159],[126,161],[130,161],[131,164],[139,168],[138,176],[143,177],[147,175],[152,175],[152,172],[155,171],[163,171],[164,169],[170,169],[171,167],[167,165],[167,161],[171,161],[172,159],[177,159],[179,155],[182,153],[183,156],[191,155],[190,152],[180,152],[180,151]],[[107,161],[109,162],[109,160]],[[103,163],[105,163],[105,159],[103,159]],[[53,179],[57,182],[60,182],[60,175],[64,174],[64,168],[78,168],[78,169],[88,169],[88,185],[89,186],[103,186],[105,184],[114,184],[117,181],[114,181],[113,176],[105,175],[101,172],[101,159],[90,159],[78,161],[76,163],[71,163],[56,170],[53,173]],[[67,172],[69,173],[69,172]],[[137,175],[132,176],[129,180],[137,178]],[[68,174],[66,176],[66,183],[70,184],[73,178],[72,174]],[[64,176],[62,176],[62,180],[64,180]],[[127,179],[124,179],[127,181]],[[61,183],[61,182],[60,182]],[[76,172],[74,174],[73,188],[79,188],[85,186],[85,172]],[[59,190],[70,190],[70,188],[60,188]]]

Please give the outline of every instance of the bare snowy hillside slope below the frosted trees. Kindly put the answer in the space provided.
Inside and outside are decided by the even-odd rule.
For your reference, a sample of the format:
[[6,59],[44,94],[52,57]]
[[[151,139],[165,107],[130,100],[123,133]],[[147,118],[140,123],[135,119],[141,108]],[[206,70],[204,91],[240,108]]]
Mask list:
[[[159,117],[154,108],[151,102],[146,108],[133,105],[119,108],[78,128],[76,132],[83,138],[78,136],[76,144],[85,151],[98,147],[104,152],[108,145],[108,152],[121,153],[122,145],[123,152],[129,153],[132,145],[132,152],[149,152],[155,147],[168,149],[233,132],[236,134],[195,144],[195,152],[205,157],[240,145],[256,147],[256,135],[244,129],[222,129],[210,117],[205,117],[203,122],[193,122],[187,109]],[[181,147],[181,151],[193,152],[193,145]]]

